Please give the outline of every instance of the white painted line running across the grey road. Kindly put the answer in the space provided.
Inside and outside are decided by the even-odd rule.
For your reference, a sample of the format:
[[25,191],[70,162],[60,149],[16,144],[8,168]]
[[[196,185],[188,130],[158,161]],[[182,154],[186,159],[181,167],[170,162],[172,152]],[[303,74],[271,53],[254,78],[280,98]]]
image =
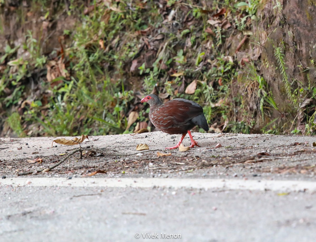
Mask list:
[[270,190],[282,192],[316,192],[316,181],[177,179],[177,178],[7,178],[0,186],[72,186],[72,187],[139,187],[203,188],[221,190]]

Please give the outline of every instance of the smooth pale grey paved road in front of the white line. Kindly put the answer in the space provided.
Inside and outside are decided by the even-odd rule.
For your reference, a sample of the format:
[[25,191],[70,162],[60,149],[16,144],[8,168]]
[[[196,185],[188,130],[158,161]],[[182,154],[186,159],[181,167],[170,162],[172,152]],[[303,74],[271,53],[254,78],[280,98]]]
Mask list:
[[[5,185],[5,180],[0,241],[315,241],[316,194],[310,191],[173,188],[168,183],[106,187],[93,179],[80,187],[64,178],[52,186],[45,180],[39,186],[36,178]],[[144,239],[146,233],[158,238]],[[163,239],[161,233],[181,238]]]

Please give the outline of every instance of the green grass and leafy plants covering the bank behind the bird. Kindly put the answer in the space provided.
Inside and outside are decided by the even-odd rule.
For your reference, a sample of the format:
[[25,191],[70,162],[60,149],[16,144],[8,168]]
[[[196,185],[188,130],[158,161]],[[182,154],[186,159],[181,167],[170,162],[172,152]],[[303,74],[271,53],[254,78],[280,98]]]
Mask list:
[[[47,21],[67,14],[76,18],[76,24],[64,29],[62,49],[59,45],[59,50],[43,55],[43,43],[27,31],[22,46],[30,54],[27,59],[17,58],[18,46],[8,45],[1,56],[6,68],[0,79],[0,111],[18,135],[132,132],[136,124],[125,131],[131,109],[139,112],[137,121],[148,120],[148,109],[135,102],[139,101],[136,94],[154,88],[171,98],[200,103],[208,123],[217,123],[224,132],[251,133],[256,125],[264,127],[261,132],[271,132],[275,122],[266,119],[278,107],[259,69],[253,62],[242,66],[227,56],[227,38],[251,31],[246,20],[256,21],[259,1],[214,1],[208,4],[210,9],[204,9],[197,1],[167,1],[160,8],[157,1],[113,1],[110,6],[106,1],[91,1],[90,7],[73,0],[67,11],[63,1],[55,9],[47,9],[46,1],[40,3],[41,8],[33,2],[33,9]],[[222,7],[231,12],[231,28],[207,23]],[[173,19],[168,21],[173,10]],[[205,32],[210,27],[214,35]],[[134,60],[139,63],[131,72]],[[46,79],[47,73],[52,80]],[[197,89],[186,94],[193,80]],[[19,117],[12,117],[12,110],[17,109]],[[13,122],[14,118],[19,122]]]

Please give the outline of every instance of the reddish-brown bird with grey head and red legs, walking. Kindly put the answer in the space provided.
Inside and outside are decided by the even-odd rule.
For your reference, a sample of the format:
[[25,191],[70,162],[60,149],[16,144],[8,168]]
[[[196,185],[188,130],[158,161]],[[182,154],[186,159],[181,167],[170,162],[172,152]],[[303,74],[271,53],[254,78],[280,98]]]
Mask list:
[[141,103],[149,103],[149,119],[152,124],[159,130],[170,134],[182,134],[178,144],[166,149],[176,149],[182,143],[186,133],[191,139],[190,148],[198,146],[197,141],[193,139],[190,129],[196,125],[209,130],[209,125],[203,114],[203,108],[197,103],[183,99],[175,98],[164,104],[155,94],[150,94],[141,100]]

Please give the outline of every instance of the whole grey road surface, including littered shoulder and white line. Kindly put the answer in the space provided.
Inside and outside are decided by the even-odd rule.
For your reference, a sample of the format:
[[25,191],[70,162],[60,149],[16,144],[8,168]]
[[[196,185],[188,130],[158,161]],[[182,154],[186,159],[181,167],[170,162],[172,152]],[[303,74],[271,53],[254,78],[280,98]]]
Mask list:
[[178,137],[89,137],[83,147],[112,155],[74,155],[27,176],[17,174],[72,147],[0,138],[0,241],[315,241],[314,137],[194,135],[201,147],[166,157],[157,151]]

